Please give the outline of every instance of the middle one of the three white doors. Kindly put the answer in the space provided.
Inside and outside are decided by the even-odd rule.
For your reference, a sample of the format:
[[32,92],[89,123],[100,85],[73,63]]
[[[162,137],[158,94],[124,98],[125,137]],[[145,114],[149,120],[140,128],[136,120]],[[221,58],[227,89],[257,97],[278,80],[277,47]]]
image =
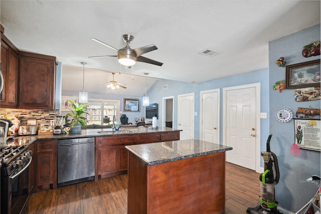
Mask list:
[[201,140],[220,143],[220,89],[201,92]]

